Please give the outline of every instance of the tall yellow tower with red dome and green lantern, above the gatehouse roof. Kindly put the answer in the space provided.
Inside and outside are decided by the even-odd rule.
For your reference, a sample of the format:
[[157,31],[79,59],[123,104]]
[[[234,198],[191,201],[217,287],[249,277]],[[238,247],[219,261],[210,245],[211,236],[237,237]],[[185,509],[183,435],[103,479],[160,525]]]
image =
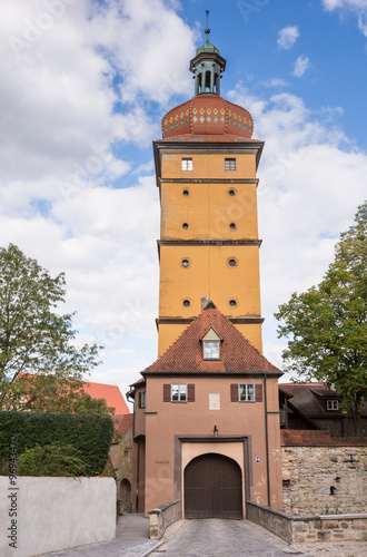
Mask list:
[[209,42],[190,62],[195,97],[162,118],[153,141],[161,228],[158,353],[212,300],[261,352],[256,170],[264,143],[220,96],[226,60]]

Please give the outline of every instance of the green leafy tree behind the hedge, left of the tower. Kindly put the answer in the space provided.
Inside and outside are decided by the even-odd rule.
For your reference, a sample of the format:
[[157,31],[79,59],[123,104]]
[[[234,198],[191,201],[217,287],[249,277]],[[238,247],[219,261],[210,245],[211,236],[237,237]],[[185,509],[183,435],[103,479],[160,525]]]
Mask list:
[[83,391],[99,348],[76,348],[75,313],[58,313],[65,295],[63,273],[52,278],[16,245],[0,248],[0,410],[110,410]]

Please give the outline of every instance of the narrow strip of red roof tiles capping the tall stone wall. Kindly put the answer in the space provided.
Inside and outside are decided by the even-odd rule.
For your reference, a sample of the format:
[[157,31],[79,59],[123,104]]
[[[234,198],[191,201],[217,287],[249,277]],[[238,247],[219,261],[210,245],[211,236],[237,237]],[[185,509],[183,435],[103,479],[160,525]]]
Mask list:
[[367,439],[331,437],[329,430],[280,430],[281,447],[366,447]]

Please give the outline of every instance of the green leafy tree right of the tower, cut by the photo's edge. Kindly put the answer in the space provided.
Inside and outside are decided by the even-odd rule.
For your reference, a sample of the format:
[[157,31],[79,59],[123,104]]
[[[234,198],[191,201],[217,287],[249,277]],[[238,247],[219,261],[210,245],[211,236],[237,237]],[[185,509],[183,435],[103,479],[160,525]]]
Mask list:
[[278,336],[289,338],[287,371],[334,384],[360,434],[367,400],[367,202],[343,233],[323,281],[294,293],[275,314]]

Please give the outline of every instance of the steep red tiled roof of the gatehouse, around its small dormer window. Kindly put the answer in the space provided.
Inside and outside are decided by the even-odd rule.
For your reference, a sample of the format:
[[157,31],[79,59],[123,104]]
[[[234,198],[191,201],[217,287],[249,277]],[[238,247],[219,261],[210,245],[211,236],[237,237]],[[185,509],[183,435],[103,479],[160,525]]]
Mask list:
[[[222,339],[219,361],[202,359],[200,340],[211,326]],[[282,374],[217,309],[204,310],[146,373]]]

